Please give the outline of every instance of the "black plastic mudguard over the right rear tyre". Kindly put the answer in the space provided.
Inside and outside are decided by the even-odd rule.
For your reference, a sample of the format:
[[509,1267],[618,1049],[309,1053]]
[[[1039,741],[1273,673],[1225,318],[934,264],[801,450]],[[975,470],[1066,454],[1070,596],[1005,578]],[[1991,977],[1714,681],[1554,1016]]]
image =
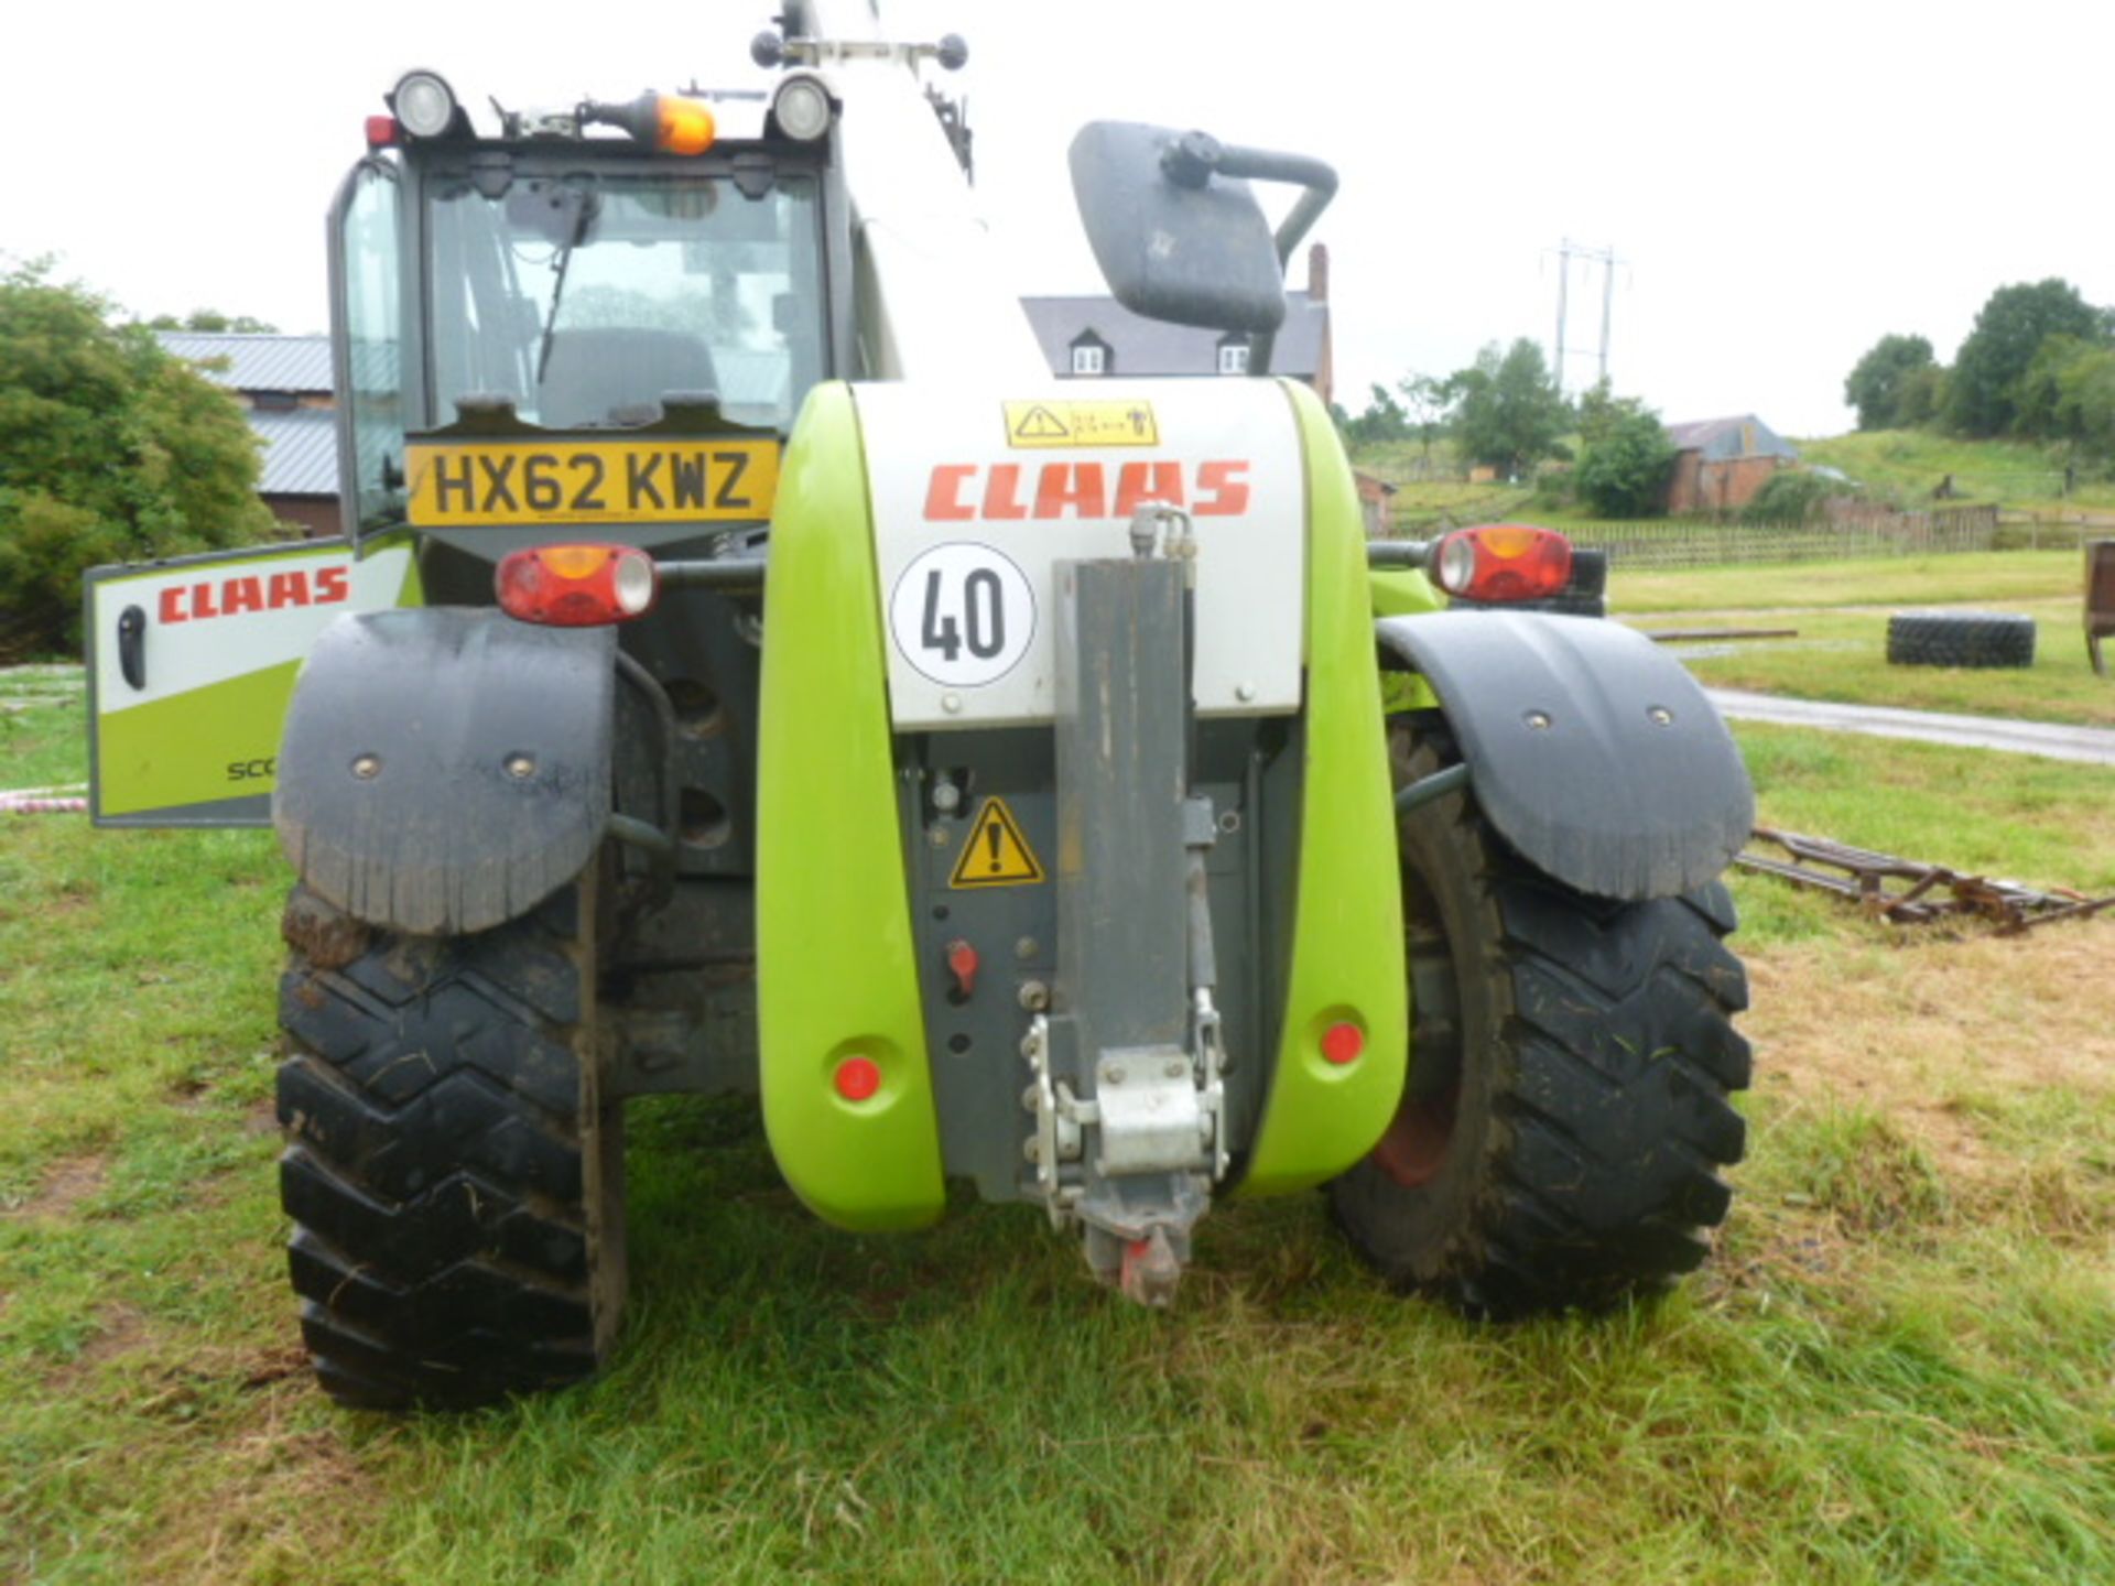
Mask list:
[[1593,617],[1434,611],[1375,624],[1440,700],[1491,825],[1580,892],[1713,880],[1755,825],[1741,751],[1684,666]]

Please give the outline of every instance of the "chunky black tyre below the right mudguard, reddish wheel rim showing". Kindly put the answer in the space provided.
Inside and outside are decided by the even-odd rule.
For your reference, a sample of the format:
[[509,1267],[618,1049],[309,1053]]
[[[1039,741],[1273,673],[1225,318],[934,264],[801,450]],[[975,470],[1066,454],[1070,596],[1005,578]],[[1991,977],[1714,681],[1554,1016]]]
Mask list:
[[[1392,721],[1396,785],[1457,759]],[[1411,1070],[1381,1144],[1328,1188],[1392,1284],[1481,1317],[1667,1288],[1726,1218],[1749,1081],[1747,975],[1717,882],[1576,892],[1489,827],[1472,789],[1398,820]]]

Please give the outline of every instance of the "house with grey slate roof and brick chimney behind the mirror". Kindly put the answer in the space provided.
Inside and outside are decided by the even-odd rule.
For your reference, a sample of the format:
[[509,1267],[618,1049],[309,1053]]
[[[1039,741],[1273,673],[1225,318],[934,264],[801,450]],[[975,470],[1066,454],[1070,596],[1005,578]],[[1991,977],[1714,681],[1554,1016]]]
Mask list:
[[[1244,334],[1146,319],[1106,296],[1022,298],[1022,307],[1060,381],[1248,374],[1250,338]],[[1328,250],[1316,243],[1307,250],[1307,290],[1286,292],[1271,372],[1305,381],[1328,402],[1330,362]]]

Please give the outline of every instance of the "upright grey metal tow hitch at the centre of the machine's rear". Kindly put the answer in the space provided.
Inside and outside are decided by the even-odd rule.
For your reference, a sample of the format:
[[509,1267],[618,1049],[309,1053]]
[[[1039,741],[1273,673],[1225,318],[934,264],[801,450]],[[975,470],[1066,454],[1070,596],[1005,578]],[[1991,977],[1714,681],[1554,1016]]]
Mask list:
[[1191,763],[1189,516],[1142,508],[1132,546],[1058,565],[1060,973],[1022,1040],[1022,1106],[1051,1222],[1083,1227],[1102,1281],[1163,1307],[1229,1167],[1206,890],[1218,827]]

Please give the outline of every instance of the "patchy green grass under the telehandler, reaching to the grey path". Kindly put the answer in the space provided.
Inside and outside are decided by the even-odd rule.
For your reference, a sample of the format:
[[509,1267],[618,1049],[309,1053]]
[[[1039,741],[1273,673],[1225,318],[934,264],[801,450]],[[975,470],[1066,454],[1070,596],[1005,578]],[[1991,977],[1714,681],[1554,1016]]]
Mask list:
[[[78,780],[78,708],[0,787]],[[1764,816],[2115,888],[2092,768],[1745,727]],[[0,1580],[2115,1578],[2115,922],[1904,935],[1736,878],[1751,1157],[1671,1301],[1468,1326],[1316,1197],[1174,1313],[1036,1212],[831,1233],[744,1106],[632,1114],[613,1370],[332,1410],[283,1290],[264,833],[0,816]]]

